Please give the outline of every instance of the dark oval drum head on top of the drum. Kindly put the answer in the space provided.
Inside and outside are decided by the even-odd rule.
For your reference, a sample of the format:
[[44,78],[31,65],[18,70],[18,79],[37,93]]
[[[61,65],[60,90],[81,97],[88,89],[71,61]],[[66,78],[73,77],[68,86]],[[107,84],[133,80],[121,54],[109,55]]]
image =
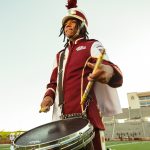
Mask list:
[[82,118],[59,120],[44,124],[20,135],[14,141],[14,145],[25,147],[55,141],[79,131],[87,124],[88,120]]

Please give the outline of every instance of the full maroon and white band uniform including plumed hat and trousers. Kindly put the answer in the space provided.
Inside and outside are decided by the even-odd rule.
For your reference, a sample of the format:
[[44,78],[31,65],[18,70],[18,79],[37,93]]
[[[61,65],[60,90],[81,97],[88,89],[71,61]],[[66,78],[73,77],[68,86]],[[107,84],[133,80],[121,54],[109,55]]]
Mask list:
[[[76,5],[75,0],[72,1],[72,5]],[[64,25],[68,19],[76,18],[82,22],[79,31],[83,26],[87,28],[88,22],[84,13],[76,8],[68,8],[68,15],[63,18],[62,25]],[[87,66],[87,63],[95,63],[96,58],[103,48],[99,41],[85,39],[79,36],[79,38],[76,38],[73,42],[69,40],[67,47],[57,53],[50,82],[47,84],[47,91],[44,95],[44,98],[50,96],[54,101],[53,121],[61,119],[62,114],[70,115],[82,113],[80,104],[81,98],[89,82],[87,76],[92,72],[92,69]],[[63,52],[63,68],[60,71],[60,56]],[[107,84],[100,82],[94,83],[88,97],[90,101],[86,110],[87,119],[95,130],[95,137],[93,139],[95,150],[101,150],[99,131],[105,130],[102,117],[112,116],[122,112],[116,90],[116,88],[120,87],[123,83],[120,69],[109,61],[107,54],[105,54],[102,64],[111,66],[113,68],[113,75]],[[58,90],[59,76],[61,73],[63,91],[62,105],[60,105],[60,91]]]

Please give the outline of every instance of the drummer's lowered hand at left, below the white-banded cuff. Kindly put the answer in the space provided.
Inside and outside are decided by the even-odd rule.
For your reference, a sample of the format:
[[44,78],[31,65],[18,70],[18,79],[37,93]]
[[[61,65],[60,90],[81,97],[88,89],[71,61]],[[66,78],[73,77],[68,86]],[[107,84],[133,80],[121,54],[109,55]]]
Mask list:
[[53,105],[53,99],[50,96],[46,96],[44,97],[42,103],[41,103],[41,109],[40,109],[40,113],[41,112],[48,112],[50,110],[50,106]]

